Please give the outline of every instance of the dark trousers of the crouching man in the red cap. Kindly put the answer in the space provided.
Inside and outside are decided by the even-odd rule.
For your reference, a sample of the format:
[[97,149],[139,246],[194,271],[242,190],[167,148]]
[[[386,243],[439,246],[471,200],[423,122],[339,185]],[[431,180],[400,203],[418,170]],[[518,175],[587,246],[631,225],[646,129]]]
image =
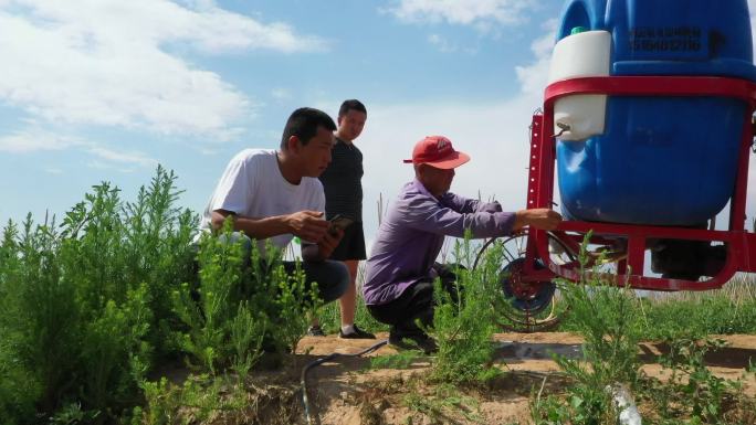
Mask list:
[[[441,279],[441,286],[454,301],[459,299],[456,275],[452,272],[455,267],[456,265],[439,263],[433,265]],[[422,278],[405,289],[399,298],[377,306],[367,306],[368,311],[376,320],[391,325],[391,332],[422,333],[416,321],[420,321],[423,327],[433,325],[433,309],[438,302],[433,295],[434,280],[430,277]]]

